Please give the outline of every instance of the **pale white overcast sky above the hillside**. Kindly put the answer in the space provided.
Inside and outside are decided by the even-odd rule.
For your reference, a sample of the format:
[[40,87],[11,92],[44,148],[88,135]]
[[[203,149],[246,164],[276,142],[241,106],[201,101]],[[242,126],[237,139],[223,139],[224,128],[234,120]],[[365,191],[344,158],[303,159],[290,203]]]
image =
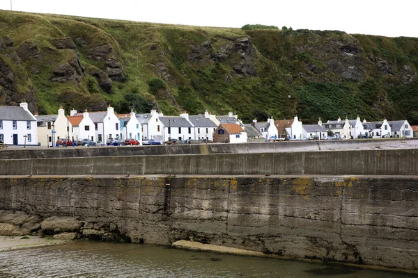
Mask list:
[[0,9],[137,22],[293,29],[418,38],[416,0],[0,0]]

